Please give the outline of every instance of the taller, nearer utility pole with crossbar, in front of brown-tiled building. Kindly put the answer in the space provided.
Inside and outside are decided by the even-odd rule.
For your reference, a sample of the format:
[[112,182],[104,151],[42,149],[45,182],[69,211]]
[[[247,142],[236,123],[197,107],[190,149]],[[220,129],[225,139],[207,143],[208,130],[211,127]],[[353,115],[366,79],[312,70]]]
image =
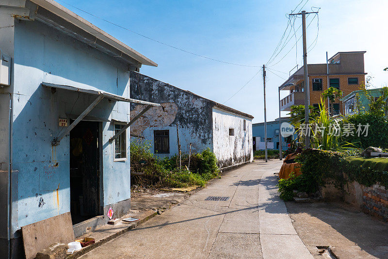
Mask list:
[[305,72],[304,75],[304,80],[305,80],[305,86],[304,86],[304,91],[305,91],[305,124],[306,124],[306,139],[305,139],[305,145],[306,148],[310,147],[310,136],[308,128],[308,104],[309,104],[309,81],[308,81],[308,76],[307,76],[307,43],[306,43],[306,14],[317,14],[318,12],[309,12],[307,13],[306,11],[302,11],[302,13],[298,14],[290,14],[290,16],[297,16],[297,15],[302,15],[302,30],[303,30],[303,70]]

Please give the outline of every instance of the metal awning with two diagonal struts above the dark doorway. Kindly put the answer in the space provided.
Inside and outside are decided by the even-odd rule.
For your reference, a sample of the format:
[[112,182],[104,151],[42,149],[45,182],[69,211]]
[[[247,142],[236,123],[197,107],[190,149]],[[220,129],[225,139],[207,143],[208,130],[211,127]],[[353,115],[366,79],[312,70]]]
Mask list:
[[62,85],[62,84],[54,84],[54,83],[48,83],[48,82],[42,82],[42,85],[45,87],[50,88],[51,90],[55,89],[64,89],[68,91],[78,92],[78,93],[84,93],[89,95],[97,96],[97,98],[73,121],[72,124],[70,124],[66,130],[62,131],[61,134],[53,139],[51,141],[52,146],[58,146],[61,140],[67,135],[74,127],[100,102],[102,99],[106,98],[113,101],[123,101],[123,102],[132,102],[137,104],[146,105],[146,107],[141,111],[139,114],[137,114],[133,119],[131,119],[125,127],[123,127],[119,132],[113,135],[112,138],[109,139],[110,142],[113,142],[114,139],[116,139],[124,130],[128,129],[129,126],[135,122],[138,118],[140,118],[146,111],[148,111],[153,106],[161,106],[160,103],[153,103],[153,102],[147,102],[132,98],[126,98],[118,95],[113,95],[111,93],[106,93],[103,91],[96,91],[96,90],[90,90],[90,89],[83,89],[79,87],[69,86],[69,85]]

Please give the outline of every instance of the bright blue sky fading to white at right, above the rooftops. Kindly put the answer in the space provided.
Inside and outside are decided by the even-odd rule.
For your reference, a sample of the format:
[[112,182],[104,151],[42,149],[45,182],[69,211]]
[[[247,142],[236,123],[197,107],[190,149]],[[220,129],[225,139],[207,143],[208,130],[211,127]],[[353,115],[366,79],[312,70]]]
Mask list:
[[[290,13],[301,0],[65,0],[82,10],[139,32],[166,44],[230,63],[262,66],[266,64],[286,29]],[[307,1],[307,3],[306,3]],[[200,96],[224,103],[249,81],[260,68],[228,65],[161,45],[135,33],[77,10],[66,8],[91,21],[131,48],[158,64],[143,66],[142,74]],[[388,33],[386,0],[304,0],[304,10],[321,7],[319,34],[308,52],[308,63],[325,63],[338,51],[366,50],[365,71],[376,87],[387,86]],[[298,8],[299,10],[299,8]],[[313,15],[307,17],[307,24]],[[301,18],[295,21],[295,30]],[[298,39],[301,29],[295,32]],[[295,44],[292,39],[276,57],[277,63]],[[307,28],[307,46],[317,36],[317,17]],[[272,69],[287,79],[289,71],[302,65],[302,40]],[[277,87],[284,81],[267,72],[267,120],[278,117]],[[263,81],[259,74],[225,105],[252,114],[255,122],[264,121]],[[282,97],[287,92],[282,93]],[[282,113],[286,115],[287,113]]]

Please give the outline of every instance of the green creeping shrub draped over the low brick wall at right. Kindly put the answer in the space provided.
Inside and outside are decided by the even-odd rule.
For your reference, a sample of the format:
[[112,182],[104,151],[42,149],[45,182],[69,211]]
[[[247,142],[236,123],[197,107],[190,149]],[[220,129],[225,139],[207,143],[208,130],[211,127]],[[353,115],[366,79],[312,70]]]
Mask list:
[[[292,199],[292,191],[315,193],[320,186],[334,184],[344,193],[348,181],[367,187],[379,183],[388,188],[388,159],[346,158],[346,153],[319,149],[306,149],[296,161],[301,164],[302,175],[279,180],[280,197]],[[378,161],[378,162],[377,162]],[[372,168],[371,168],[372,167]],[[346,178],[344,177],[346,176]]]

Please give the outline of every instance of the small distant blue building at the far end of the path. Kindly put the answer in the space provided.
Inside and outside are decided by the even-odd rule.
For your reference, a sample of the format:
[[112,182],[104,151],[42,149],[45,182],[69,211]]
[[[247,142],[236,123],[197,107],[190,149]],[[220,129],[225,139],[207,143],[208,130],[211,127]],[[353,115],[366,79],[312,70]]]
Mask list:
[[[282,117],[281,122],[290,122],[288,117]],[[262,150],[265,149],[265,138],[264,138],[264,122],[252,124],[252,134],[254,149]],[[297,134],[294,134],[291,139],[295,140]],[[282,150],[288,149],[290,138],[282,137]],[[279,119],[267,122],[267,148],[268,149],[279,149]]]

